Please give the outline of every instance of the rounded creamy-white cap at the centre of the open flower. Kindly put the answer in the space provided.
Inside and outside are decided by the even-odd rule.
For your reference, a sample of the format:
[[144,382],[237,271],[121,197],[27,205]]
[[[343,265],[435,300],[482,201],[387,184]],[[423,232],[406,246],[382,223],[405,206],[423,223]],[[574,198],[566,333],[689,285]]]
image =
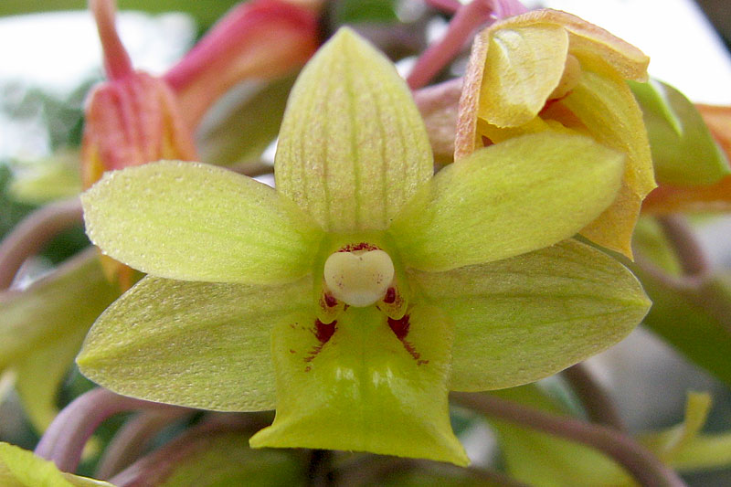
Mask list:
[[340,251],[325,260],[323,273],[336,299],[360,308],[386,296],[394,279],[394,263],[381,249]]

